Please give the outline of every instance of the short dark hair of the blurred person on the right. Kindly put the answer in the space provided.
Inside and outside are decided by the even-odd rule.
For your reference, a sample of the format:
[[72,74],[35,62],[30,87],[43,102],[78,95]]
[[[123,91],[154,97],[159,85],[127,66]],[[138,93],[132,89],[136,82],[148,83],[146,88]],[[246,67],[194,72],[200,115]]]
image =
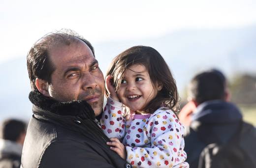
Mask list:
[[196,75],[189,86],[190,97],[201,104],[209,100],[224,99],[226,79],[219,70],[212,69]]

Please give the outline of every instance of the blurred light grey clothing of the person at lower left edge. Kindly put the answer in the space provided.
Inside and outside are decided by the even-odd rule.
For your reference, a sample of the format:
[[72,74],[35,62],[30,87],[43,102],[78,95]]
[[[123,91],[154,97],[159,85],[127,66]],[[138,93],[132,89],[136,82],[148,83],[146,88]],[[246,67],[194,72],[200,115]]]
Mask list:
[[20,168],[22,145],[0,139],[0,168]]

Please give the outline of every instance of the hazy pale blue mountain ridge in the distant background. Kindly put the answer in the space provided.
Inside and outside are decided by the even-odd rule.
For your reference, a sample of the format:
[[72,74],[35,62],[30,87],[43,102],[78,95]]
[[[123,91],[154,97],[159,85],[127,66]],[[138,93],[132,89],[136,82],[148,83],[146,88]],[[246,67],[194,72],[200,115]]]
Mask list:
[[[129,47],[155,48],[168,63],[179,91],[195,73],[211,67],[223,70],[229,77],[241,72],[256,73],[256,25],[224,30],[180,30],[159,38],[93,45],[103,74],[111,60]],[[28,119],[32,112],[26,56],[1,63],[0,72],[0,119],[8,116]]]

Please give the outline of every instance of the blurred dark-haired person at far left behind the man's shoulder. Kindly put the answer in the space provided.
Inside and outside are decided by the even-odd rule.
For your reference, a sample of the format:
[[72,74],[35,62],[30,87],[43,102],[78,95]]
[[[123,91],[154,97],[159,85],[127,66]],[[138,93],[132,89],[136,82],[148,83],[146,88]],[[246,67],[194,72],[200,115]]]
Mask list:
[[0,128],[0,168],[20,168],[26,123],[16,119],[4,120]]

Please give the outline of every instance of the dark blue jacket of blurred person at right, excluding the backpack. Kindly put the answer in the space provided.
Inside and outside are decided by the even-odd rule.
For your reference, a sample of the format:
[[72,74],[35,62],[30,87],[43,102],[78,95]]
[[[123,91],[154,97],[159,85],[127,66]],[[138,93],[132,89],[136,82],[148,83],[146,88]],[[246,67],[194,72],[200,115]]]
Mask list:
[[[239,129],[242,114],[232,103],[222,100],[206,101],[200,104],[192,115],[192,122],[185,136],[185,148],[190,168],[197,168],[199,156],[208,144],[227,143]],[[243,147],[249,153],[250,159],[256,158],[255,133],[247,140]]]

